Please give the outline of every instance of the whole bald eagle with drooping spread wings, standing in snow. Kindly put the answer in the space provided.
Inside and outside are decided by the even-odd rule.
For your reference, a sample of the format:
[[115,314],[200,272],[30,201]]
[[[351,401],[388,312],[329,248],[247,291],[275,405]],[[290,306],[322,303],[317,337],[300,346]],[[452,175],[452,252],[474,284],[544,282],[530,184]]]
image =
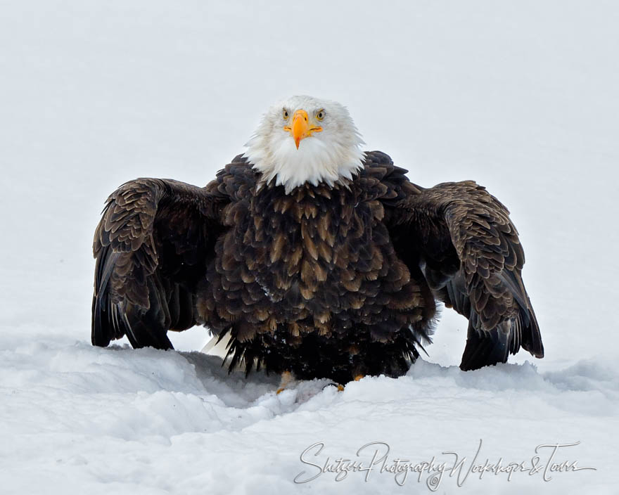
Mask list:
[[207,186],[120,186],[94,236],[92,343],[172,349],[168,330],[203,325],[230,369],[397,377],[441,301],[468,318],[462,370],[544,356],[506,207],[473,181],[416,186],[362,144],[343,105],[295,96]]

